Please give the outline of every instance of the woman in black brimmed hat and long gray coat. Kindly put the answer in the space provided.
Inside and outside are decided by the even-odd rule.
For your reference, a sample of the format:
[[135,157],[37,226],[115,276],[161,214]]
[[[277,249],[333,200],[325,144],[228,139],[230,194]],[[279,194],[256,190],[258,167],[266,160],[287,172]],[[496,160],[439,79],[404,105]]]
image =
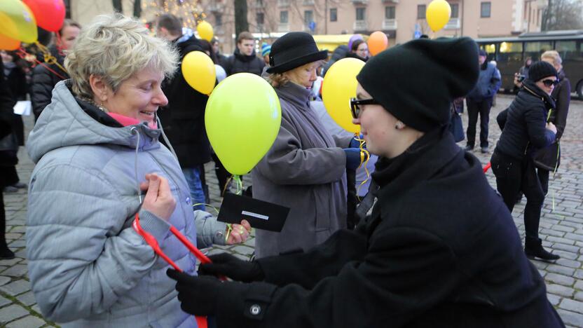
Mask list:
[[319,51],[310,34],[290,32],[273,43],[269,58],[266,73],[280,98],[282,125],[252,171],[253,197],[291,210],[280,233],[256,232],[257,258],[308,250],[345,228],[346,166],[360,163],[359,149],[343,150],[350,137],[335,140],[310,107],[327,51]]

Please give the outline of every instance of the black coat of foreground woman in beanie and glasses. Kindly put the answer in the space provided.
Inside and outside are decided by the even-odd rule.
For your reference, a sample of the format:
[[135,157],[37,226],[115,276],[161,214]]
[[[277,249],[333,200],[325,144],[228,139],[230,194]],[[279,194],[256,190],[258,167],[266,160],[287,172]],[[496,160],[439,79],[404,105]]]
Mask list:
[[451,134],[380,160],[373,179],[370,219],[259,259],[267,283],[224,300],[218,327],[564,327],[507,207]]

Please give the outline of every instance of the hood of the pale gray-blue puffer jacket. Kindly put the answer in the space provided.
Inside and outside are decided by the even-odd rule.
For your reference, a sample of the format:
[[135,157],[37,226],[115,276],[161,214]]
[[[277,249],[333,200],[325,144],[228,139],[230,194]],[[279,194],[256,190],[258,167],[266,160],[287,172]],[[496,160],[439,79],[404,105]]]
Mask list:
[[160,147],[160,130],[148,128],[145,122],[116,128],[97,121],[81,108],[67,83],[70,81],[57,83],[53,99],[30,132],[27,151],[34,163],[49,151],[66,146],[116,144],[135,149],[139,141],[139,149]]

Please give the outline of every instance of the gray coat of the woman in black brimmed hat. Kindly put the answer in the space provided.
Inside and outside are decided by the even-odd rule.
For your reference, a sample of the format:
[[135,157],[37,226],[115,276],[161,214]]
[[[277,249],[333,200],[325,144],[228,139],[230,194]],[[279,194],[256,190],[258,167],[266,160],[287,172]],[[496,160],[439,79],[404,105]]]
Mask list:
[[281,233],[256,231],[256,257],[308,250],[346,227],[346,156],[310,108],[310,91],[287,83],[280,97],[282,125],[252,170],[253,197],[290,207]]

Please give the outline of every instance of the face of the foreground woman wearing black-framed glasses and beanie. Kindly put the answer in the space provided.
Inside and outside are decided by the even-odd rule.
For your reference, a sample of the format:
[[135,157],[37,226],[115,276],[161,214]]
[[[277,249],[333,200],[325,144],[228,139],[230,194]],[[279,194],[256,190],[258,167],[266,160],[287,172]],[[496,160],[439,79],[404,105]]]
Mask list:
[[[371,95],[366,92],[358,83],[356,97],[359,100],[371,99]],[[392,153],[391,145],[397,139],[399,130],[395,129],[397,118],[392,116],[380,104],[360,105],[358,118],[352,118],[352,123],[360,125],[360,132],[366,141],[366,149],[371,153],[388,158],[395,157]]]

